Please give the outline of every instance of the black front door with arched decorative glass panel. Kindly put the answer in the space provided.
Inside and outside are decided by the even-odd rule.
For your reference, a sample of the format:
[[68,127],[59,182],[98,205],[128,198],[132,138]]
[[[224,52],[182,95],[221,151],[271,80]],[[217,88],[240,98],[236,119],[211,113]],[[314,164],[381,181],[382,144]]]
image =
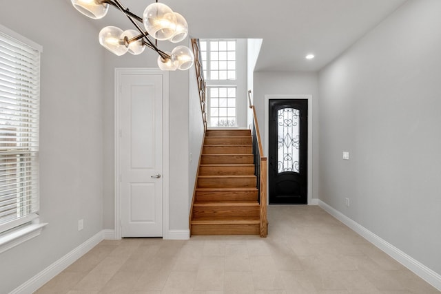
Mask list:
[[307,99],[269,100],[269,204],[307,204]]

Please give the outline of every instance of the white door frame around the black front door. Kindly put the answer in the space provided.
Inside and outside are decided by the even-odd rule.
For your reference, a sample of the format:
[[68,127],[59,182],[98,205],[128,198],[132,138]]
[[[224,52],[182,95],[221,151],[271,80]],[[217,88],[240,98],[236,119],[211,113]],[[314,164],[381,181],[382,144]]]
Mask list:
[[[268,154],[268,123],[269,123],[269,100],[276,99],[307,99],[308,100],[308,205],[317,205],[312,201],[312,95],[265,95],[265,154]],[[269,168],[269,165],[268,165]],[[269,174],[269,173],[267,173]],[[268,179],[267,179],[268,182]],[[269,203],[269,185],[267,185],[267,203]]]

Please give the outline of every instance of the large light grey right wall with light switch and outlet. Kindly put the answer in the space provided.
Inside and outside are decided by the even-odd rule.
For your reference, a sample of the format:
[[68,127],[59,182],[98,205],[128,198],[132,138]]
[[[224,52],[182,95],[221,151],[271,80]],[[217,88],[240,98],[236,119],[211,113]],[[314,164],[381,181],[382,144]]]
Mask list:
[[438,274],[440,11],[408,1],[319,76],[320,200]]

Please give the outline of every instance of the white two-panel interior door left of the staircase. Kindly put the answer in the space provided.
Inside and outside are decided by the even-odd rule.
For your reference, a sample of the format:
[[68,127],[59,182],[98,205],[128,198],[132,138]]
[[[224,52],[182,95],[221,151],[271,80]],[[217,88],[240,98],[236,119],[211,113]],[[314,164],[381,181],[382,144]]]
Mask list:
[[163,75],[123,74],[119,82],[121,237],[161,237]]

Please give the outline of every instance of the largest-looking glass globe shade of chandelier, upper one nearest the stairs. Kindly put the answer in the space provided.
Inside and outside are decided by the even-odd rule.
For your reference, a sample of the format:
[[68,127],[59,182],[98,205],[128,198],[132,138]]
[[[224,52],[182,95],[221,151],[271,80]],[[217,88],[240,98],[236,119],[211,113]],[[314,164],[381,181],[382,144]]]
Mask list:
[[176,30],[176,15],[163,3],[152,3],[144,10],[143,23],[154,39],[168,40]]

